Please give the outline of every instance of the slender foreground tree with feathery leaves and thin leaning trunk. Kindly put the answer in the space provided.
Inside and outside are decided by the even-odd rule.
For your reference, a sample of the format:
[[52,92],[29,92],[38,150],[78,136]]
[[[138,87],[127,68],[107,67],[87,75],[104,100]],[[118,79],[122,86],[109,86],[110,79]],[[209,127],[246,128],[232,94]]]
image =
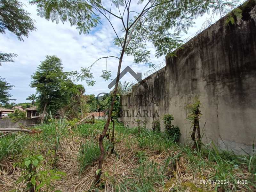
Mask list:
[[[139,0],[136,4],[140,5],[141,11],[138,12],[130,10],[131,7],[139,7],[138,5],[130,6],[131,2],[131,0],[111,0],[111,4],[105,6],[100,0],[30,1],[31,4],[37,4],[38,15],[47,20],[51,19],[52,21],[56,21],[56,23],[59,23],[59,21],[69,21],[71,26],[77,26],[79,34],[88,33],[91,28],[101,23],[99,15],[109,21],[110,26],[116,34],[114,43],[120,47],[120,55],[100,58],[106,58],[106,60],[108,58],[116,58],[119,62],[108,120],[99,137],[101,155],[98,166],[99,174],[97,174],[96,180],[100,178],[105,155],[103,139],[108,131],[113,105],[116,99],[119,74],[124,54],[132,55],[134,57],[134,63],[148,63],[149,67],[152,67],[150,63],[151,53],[147,50],[148,43],[153,44],[156,48],[156,57],[166,54],[174,56],[172,51],[179,48],[182,43],[179,40],[180,32],[187,32],[188,28],[192,26],[194,18],[202,16],[205,12],[209,12],[210,9],[213,10],[212,13],[214,14],[217,11],[222,12],[226,7],[234,7],[231,0]],[[221,9],[219,9],[219,7],[221,7]],[[118,35],[112,23],[112,19],[119,21],[119,29],[122,30],[123,37],[121,37],[120,34]],[[170,29],[175,30],[171,33]],[[86,80],[88,85],[95,84],[95,81],[92,80],[93,75],[90,73],[93,64],[87,68],[81,68],[81,73],[74,71],[72,75],[77,76],[77,80]],[[108,80],[111,76],[110,71],[106,69],[102,72],[103,79]]]

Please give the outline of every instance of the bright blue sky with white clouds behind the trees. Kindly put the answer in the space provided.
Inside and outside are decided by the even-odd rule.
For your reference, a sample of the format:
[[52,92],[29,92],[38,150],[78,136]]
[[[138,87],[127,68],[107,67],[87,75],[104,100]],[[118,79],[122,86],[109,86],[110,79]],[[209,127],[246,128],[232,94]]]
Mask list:
[[[0,34],[0,51],[3,53],[16,53],[18,56],[14,58],[15,62],[3,63],[0,67],[0,76],[14,85],[10,91],[12,99],[16,99],[15,103],[29,102],[26,98],[36,93],[35,88],[29,86],[31,82],[31,75],[36,71],[40,62],[45,60],[45,55],[56,55],[62,60],[64,71],[79,70],[81,67],[88,67],[100,57],[119,56],[120,49],[113,44],[115,33],[106,20],[102,21],[102,25],[94,28],[89,34],[79,35],[79,31],[75,26],[71,27],[69,23],[56,24],[52,21],[45,20],[37,16],[36,5],[29,5],[27,1],[22,1],[25,6],[24,9],[31,13],[31,18],[34,19],[36,31],[32,31],[28,38],[19,41],[18,38],[9,31],[6,34]],[[105,1],[107,6],[109,1]],[[141,10],[141,6],[133,5],[131,10]],[[196,32],[202,27],[205,20],[209,19],[210,15],[204,15],[195,20],[193,28],[188,30],[188,34],[181,34],[181,39],[193,37]],[[214,17],[217,21],[220,17]],[[113,26],[116,29],[120,28],[120,22],[113,17]],[[213,21],[213,22],[214,22]],[[119,30],[117,30],[119,31]],[[120,34],[120,32],[118,32]],[[154,56],[155,50],[152,45],[149,45],[152,51],[151,62],[155,65],[164,67],[164,56],[156,58]],[[122,69],[130,66],[135,72],[141,72],[142,77],[150,70],[148,65],[143,63],[134,64],[132,56],[124,56]],[[118,60],[115,58],[108,58],[107,70],[112,72],[112,79],[117,73]],[[85,94],[98,95],[101,92],[109,92],[108,84],[111,80],[104,81],[100,75],[101,71],[106,69],[106,59],[99,60],[93,67],[93,73],[96,84],[91,87],[87,86],[85,82],[76,82],[76,84],[83,84],[85,87]],[[136,82],[130,75],[126,74],[121,81]]]

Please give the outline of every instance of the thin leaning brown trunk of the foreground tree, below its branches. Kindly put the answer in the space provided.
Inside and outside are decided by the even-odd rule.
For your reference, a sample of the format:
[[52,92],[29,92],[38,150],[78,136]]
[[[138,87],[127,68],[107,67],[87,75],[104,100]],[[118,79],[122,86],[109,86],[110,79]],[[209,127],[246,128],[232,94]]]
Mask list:
[[127,34],[128,34],[128,31],[125,32],[124,45],[123,45],[123,49],[122,49],[122,52],[121,52],[121,55],[120,55],[120,59],[119,59],[118,70],[117,70],[117,77],[116,77],[116,85],[115,85],[113,96],[112,96],[111,106],[110,106],[109,112],[108,112],[107,123],[105,124],[103,132],[102,132],[102,134],[99,137],[100,158],[99,158],[99,164],[98,164],[99,173],[96,174],[96,178],[95,178],[96,182],[98,182],[100,180],[103,159],[104,159],[104,156],[105,156],[105,150],[104,150],[104,147],[103,147],[103,139],[106,136],[106,133],[108,131],[108,126],[109,126],[109,123],[110,123],[110,119],[111,119],[112,111],[113,111],[113,106],[114,106],[115,99],[116,99],[116,92],[117,92],[117,87],[118,87],[118,83],[119,83],[119,79],[120,79],[120,70],[121,70],[122,60],[123,60],[123,56],[124,56],[124,50],[125,50],[125,44],[126,44],[126,40],[127,40]]

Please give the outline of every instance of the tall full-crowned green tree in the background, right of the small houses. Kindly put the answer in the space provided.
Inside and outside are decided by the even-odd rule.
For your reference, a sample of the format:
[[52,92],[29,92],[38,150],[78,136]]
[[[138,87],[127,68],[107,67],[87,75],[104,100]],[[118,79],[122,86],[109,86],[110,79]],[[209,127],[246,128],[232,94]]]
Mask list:
[[41,62],[31,78],[30,86],[36,88],[39,94],[38,110],[43,112],[42,123],[46,111],[51,111],[53,116],[59,115],[60,110],[70,104],[72,97],[84,89],[82,85],[74,84],[67,72],[63,72],[61,59],[55,55],[46,55],[46,60]]

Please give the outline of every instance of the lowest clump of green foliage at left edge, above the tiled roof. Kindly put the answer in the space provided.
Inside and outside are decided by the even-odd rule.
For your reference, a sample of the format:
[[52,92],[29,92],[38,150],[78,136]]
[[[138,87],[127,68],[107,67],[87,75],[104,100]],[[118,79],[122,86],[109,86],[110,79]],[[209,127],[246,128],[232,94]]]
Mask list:
[[12,94],[9,93],[10,90],[12,90],[13,85],[10,85],[5,81],[4,78],[0,77],[0,104],[7,104],[10,100],[10,97],[12,97]]

